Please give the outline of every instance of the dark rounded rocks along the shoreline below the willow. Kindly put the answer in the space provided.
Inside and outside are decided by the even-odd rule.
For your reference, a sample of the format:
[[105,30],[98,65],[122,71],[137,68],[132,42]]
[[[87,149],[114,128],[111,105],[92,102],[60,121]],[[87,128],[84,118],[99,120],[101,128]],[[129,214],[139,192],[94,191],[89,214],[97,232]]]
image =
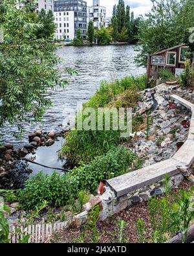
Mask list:
[[56,133],[54,131],[43,132],[36,130],[28,134],[29,143],[23,148],[14,148],[7,144],[0,147],[0,189],[5,189],[5,184],[9,182],[12,170],[23,157],[34,152],[39,146],[52,146],[58,137],[63,137],[66,131]]

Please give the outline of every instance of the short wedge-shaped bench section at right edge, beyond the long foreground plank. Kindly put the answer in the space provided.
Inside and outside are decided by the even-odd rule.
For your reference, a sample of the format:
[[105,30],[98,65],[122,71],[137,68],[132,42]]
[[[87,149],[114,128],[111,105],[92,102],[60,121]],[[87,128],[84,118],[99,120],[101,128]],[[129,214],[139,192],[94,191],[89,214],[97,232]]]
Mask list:
[[190,167],[194,161],[194,141],[186,141],[184,145],[181,146],[180,150],[173,156],[173,159]]

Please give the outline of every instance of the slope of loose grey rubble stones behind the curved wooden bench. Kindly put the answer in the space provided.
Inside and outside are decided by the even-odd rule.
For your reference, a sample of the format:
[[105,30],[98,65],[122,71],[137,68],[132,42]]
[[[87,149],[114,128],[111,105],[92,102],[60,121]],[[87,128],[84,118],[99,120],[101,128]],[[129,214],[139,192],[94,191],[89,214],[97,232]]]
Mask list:
[[[188,137],[189,128],[184,128],[182,121],[189,121],[191,112],[177,103],[172,109],[169,104],[172,94],[187,100],[193,97],[188,89],[162,84],[143,91],[142,101],[138,102],[136,113],[144,116],[144,128],[134,134],[131,146],[142,159],[143,167],[169,159],[177,151],[177,143],[184,143]],[[146,115],[149,115],[148,134]]]

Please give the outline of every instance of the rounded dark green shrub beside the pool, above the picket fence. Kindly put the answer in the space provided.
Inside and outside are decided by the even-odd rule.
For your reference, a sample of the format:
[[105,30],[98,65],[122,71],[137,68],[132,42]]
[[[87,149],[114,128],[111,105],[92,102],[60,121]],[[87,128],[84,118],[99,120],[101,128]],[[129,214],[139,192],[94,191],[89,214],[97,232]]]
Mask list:
[[42,205],[44,200],[52,207],[66,205],[70,195],[78,193],[76,176],[58,174],[51,176],[39,172],[25,182],[25,189],[16,192],[17,200],[24,209],[34,209]]

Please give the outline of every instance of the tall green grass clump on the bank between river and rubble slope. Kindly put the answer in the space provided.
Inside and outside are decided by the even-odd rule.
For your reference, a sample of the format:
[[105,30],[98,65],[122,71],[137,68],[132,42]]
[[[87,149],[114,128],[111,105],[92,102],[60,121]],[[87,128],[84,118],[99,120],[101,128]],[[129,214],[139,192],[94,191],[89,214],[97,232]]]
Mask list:
[[[146,76],[130,76],[122,80],[115,80],[108,83],[103,81],[100,89],[85,104],[85,108],[115,108],[133,107],[138,101],[138,91],[146,88]],[[124,97],[124,92],[127,96]],[[116,102],[116,104],[114,104]],[[113,118],[113,117],[112,117]],[[84,121],[85,117],[83,117]],[[111,119],[111,124],[113,120]],[[96,127],[98,126],[96,111]],[[61,150],[61,156],[67,156],[70,165],[78,165],[80,161],[89,163],[95,156],[105,154],[111,148],[127,141],[126,138],[120,136],[120,130],[72,130],[66,137],[66,143]],[[123,131],[122,131],[123,132]]]

